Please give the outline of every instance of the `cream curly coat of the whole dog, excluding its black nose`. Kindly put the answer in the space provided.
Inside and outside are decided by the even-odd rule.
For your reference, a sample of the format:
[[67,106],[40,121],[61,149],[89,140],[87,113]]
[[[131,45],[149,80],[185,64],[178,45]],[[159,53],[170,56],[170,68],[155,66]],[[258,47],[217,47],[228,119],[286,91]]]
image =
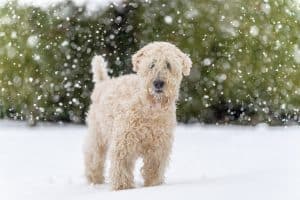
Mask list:
[[[106,63],[94,57],[95,88],[87,116],[85,174],[89,182],[103,183],[106,155],[111,161],[114,190],[134,187],[133,168],[138,157],[145,186],[161,184],[169,161],[176,126],[176,105],[182,76],[192,62],[176,46],[153,42],[132,57],[136,74],[109,79]],[[164,81],[162,92],[153,86]]]

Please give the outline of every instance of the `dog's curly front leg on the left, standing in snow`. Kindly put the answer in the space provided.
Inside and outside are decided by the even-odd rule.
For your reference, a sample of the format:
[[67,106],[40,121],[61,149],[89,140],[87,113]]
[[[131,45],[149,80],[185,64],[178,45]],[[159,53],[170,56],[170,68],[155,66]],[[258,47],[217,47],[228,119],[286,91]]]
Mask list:
[[133,169],[135,158],[130,152],[126,140],[116,142],[112,146],[110,176],[113,190],[134,187]]

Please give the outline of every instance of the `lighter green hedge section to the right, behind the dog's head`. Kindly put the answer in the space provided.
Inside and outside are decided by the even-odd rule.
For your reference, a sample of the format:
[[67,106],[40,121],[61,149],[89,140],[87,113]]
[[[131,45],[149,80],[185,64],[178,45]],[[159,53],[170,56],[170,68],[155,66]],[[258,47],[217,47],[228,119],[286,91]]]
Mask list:
[[152,1],[134,18],[142,45],[167,40],[191,55],[181,121],[277,124],[299,115],[300,26],[292,9],[288,1]]

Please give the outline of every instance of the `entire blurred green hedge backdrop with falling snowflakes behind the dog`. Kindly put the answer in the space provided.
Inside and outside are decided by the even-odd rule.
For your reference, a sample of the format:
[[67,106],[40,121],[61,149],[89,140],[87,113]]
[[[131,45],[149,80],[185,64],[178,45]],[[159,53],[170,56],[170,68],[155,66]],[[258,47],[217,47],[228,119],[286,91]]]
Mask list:
[[193,61],[180,122],[299,124],[299,22],[298,0],[2,0],[0,118],[84,123],[95,54],[116,77],[143,45],[169,41]]

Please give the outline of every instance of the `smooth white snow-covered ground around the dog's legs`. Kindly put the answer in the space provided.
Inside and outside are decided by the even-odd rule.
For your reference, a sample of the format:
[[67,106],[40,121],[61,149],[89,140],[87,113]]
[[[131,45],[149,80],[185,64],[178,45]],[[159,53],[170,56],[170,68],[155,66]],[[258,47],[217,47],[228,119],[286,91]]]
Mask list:
[[118,192],[86,183],[85,132],[0,121],[0,199],[300,199],[300,127],[178,126],[166,183]]

